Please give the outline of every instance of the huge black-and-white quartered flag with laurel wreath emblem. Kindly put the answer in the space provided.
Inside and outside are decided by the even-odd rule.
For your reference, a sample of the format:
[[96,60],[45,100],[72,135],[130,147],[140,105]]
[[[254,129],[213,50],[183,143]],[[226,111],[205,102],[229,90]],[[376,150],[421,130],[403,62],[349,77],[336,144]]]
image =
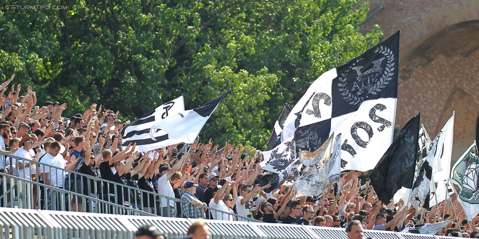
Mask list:
[[342,168],[373,169],[392,142],[398,97],[399,31],[346,64],[323,73],[285,120],[281,140],[316,151],[341,133]]

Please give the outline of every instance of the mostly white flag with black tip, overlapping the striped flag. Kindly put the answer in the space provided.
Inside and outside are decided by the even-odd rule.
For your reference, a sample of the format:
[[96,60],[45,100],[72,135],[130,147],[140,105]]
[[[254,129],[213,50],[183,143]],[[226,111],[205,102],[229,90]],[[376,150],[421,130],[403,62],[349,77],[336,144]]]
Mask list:
[[175,143],[193,143],[206,121],[210,119],[228,93],[229,91],[200,108],[179,112],[154,124],[150,130],[150,137],[156,143],[151,149]]

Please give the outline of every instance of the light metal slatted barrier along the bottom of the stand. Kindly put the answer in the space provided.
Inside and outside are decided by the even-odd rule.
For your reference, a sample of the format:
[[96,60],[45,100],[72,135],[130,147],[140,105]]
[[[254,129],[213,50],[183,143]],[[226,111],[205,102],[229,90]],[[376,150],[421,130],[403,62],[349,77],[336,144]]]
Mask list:
[[[0,239],[133,239],[155,226],[167,239],[185,238],[196,219],[0,208]],[[348,239],[344,228],[205,220],[211,239]],[[365,230],[364,238],[438,239],[434,235]]]

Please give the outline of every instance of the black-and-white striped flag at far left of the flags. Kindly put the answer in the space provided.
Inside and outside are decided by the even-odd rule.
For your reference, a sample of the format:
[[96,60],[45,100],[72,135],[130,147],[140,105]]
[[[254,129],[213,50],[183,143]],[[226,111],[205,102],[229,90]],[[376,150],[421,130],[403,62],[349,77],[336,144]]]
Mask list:
[[[166,117],[183,111],[185,111],[183,96],[160,105],[148,115],[136,119],[132,123],[123,127],[121,130],[121,135],[123,137],[122,146],[136,143],[136,147],[140,152],[147,152],[149,150],[160,148],[161,146],[158,144],[160,140],[153,140],[150,137],[150,128]],[[164,135],[166,135],[166,132],[164,132]]]

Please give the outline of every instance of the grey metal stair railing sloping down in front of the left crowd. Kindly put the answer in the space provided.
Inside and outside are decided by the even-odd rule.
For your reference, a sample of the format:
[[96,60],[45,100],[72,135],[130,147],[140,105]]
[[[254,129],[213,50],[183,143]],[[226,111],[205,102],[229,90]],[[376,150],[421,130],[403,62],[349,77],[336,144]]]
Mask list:
[[[0,153],[2,154],[2,153]],[[43,209],[58,211],[83,211],[89,213],[119,214],[119,215],[159,215],[182,217],[181,200],[174,197],[138,189],[133,186],[108,181],[102,178],[82,174],[77,171],[54,167],[42,162],[27,160],[11,154],[3,154],[6,165],[15,165],[9,174],[0,172],[0,207]],[[36,166],[36,181],[21,178],[25,170],[30,167],[17,169],[19,162]],[[27,168],[27,169],[26,169]],[[59,175],[66,175],[62,180],[56,179],[52,185],[46,185],[39,176],[44,168]],[[23,174],[22,174],[23,171]],[[64,187],[59,187],[64,185]],[[89,195],[87,195],[89,194]],[[129,199],[129,201],[124,199]],[[154,198],[154,201],[143,200]],[[173,202],[173,207],[167,206],[162,210],[162,202]],[[81,205],[81,210],[79,210]],[[216,209],[199,206],[207,209],[214,218],[221,218],[223,214],[232,215],[235,220],[255,221],[253,218],[218,211]]]

